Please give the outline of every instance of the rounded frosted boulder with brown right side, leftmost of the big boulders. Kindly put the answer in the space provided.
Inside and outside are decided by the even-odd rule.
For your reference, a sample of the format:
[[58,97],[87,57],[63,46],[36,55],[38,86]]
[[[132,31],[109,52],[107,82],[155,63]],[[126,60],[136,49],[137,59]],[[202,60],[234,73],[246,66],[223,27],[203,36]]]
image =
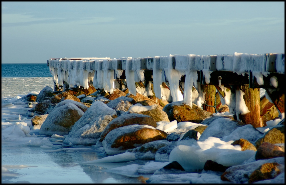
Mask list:
[[72,103],[57,106],[43,122],[39,133],[48,136],[67,135],[83,115],[84,112]]

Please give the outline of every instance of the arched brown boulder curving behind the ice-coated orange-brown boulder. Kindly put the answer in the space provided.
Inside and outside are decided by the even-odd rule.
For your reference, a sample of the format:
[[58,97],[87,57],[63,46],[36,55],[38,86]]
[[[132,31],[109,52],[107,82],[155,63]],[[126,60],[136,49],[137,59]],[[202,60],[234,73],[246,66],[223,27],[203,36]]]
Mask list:
[[[114,100],[112,100],[114,101]],[[109,122],[109,124],[106,126],[104,131],[101,133],[99,141],[102,142],[105,138],[105,136],[111,131],[119,127],[127,126],[127,125],[149,125],[152,127],[156,127],[156,121],[147,115],[142,114],[125,114],[122,116],[119,116]]]

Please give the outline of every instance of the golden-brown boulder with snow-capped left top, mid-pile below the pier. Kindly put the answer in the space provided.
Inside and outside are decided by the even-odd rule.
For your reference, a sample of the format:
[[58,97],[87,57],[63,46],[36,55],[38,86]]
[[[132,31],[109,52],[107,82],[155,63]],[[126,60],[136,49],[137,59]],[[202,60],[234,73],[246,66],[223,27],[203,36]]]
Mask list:
[[[143,106],[143,107],[150,108],[151,106]],[[158,106],[158,104],[152,105],[151,110],[141,111],[141,112],[134,112],[133,110],[130,110],[129,108],[128,114],[130,113],[144,114],[144,115],[152,117],[156,122],[160,122],[160,121],[170,122],[166,112],[162,111],[159,107],[160,106]]]

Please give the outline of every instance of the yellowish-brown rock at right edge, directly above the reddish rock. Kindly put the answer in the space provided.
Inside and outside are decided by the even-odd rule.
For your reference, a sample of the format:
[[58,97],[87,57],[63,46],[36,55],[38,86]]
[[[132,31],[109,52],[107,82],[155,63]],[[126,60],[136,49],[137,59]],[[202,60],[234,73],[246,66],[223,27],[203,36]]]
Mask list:
[[268,130],[262,138],[259,138],[255,142],[256,149],[259,148],[259,146],[263,142],[268,142],[272,144],[278,144],[278,143],[285,143],[285,126],[284,125],[277,125]]

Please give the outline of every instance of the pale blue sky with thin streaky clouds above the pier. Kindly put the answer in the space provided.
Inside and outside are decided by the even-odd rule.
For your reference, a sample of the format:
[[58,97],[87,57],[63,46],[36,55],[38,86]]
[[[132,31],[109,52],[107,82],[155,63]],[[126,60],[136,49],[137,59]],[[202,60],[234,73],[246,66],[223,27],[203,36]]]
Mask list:
[[1,62],[284,53],[285,2],[1,2]]

